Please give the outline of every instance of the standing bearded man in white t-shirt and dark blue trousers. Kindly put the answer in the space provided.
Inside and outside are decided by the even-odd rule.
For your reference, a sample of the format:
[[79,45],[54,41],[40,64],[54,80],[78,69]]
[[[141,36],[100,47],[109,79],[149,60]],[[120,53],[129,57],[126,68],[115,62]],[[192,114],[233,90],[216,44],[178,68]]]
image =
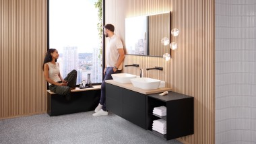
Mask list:
[[123,59],[125,59],[125,51],[121,39],[114,33],[115,27],[112,24],[104,26],[104,35],[109,38],[108,46],[106,46],[106,67],[104,69],[104,80],[101,84],[100,104],[95,108],[93,116],[106,116],[106,85],[105,80],[113,79],[111,74],[121,73],[123,68]]

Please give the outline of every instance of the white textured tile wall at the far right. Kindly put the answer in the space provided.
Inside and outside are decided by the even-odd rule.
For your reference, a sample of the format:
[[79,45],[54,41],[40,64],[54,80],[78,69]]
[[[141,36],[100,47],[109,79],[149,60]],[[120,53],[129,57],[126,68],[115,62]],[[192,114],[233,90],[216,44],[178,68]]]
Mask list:
[[216,143],[256,143],[256,0],[216,0]]

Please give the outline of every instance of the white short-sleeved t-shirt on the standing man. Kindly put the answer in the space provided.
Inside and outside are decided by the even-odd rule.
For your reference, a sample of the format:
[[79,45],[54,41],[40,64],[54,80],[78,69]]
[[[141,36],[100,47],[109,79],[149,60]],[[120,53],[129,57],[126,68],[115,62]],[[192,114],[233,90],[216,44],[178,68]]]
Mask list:
[[[115,34],[109,38],[106,46],[106,67],[114,67],[119,59],[118,49],[123,48],[121,39]],[[123,62],[119,65],[118,69],[123,68]]]

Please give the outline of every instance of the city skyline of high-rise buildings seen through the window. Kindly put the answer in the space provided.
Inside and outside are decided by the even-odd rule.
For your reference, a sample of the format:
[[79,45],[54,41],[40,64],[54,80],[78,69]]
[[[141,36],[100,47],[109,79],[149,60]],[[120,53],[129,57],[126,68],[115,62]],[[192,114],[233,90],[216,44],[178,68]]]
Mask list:
[[[67,46],[65,53],[59,53],[57,62],[60,65],[61,75],[66,77],[73,69],[77,70],[77,85],[88,79],[88,73],[92,83],[102,82],[102,61],[98,58],[100,49],[94,48],[94,52],[77,52],[77,46]],[[65,59],[65,61],[64,61]]]

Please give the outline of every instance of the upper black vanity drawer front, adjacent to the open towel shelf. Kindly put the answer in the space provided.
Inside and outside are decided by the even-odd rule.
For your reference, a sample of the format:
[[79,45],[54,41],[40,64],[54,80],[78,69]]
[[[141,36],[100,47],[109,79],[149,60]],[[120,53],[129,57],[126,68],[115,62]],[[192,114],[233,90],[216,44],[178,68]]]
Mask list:
[[146,95],[123,89],[123,104],[146,112]]

